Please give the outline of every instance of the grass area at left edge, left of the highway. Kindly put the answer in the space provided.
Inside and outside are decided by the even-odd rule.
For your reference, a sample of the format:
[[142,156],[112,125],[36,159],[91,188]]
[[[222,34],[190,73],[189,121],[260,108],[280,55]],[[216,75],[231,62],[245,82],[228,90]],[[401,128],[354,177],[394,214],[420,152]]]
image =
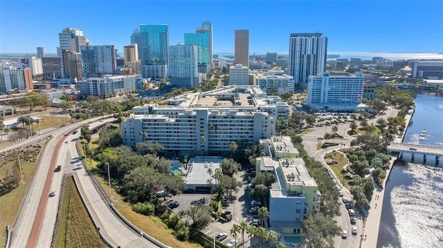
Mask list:
[[[8,174],[8,167],[12,166],[12,164],[15,164],[15,162],[10,162],[0,168],[0,178]],[[2,231],[0,231],[0,244],[5,243],[6,226],[9,224],[12,227],[12,224],[14,224],[15,216],[17,216],[26,189],[28,189],[29,182],[37,170],[37,164],[21,161],[21,170],[23,171],[25,184],[8,193],[0,193],[0,227],[2,228]]]

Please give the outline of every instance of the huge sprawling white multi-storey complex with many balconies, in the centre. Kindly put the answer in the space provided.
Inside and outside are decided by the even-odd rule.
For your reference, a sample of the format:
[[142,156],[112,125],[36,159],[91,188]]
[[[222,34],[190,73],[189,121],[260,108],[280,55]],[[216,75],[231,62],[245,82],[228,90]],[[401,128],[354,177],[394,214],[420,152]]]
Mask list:
[[255,144],[275,134],[276,120],[288,120],[289,106],[279,99],[256,86],[226,87],[137,106],[122,123],[123,143],[135,149],[150,140],[189,154],[228,151],[233,141]]

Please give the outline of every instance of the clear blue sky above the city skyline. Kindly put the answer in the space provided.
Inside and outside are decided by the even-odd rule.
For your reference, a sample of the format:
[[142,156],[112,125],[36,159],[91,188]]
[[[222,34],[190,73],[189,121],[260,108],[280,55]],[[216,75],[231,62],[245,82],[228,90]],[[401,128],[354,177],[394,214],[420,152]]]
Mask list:
[[323,32],[328,51],[443,53],[443,1],[12,1],[0,0],[0,53],[55,53],[58,32],[80,28],[92,45],[123,52],[139,23],[168,23],[170,45],[213,21],[214,53],[287,53],[291,32]]

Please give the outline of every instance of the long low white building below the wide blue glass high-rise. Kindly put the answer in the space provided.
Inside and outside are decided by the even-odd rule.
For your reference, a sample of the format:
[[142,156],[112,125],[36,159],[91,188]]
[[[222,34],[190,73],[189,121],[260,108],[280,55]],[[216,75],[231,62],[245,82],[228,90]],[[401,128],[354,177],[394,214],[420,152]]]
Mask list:
[[141,75],[90,77],[79,83],[80,93],[87,97],[96,95],[100,99],[132,93],[143,87]]

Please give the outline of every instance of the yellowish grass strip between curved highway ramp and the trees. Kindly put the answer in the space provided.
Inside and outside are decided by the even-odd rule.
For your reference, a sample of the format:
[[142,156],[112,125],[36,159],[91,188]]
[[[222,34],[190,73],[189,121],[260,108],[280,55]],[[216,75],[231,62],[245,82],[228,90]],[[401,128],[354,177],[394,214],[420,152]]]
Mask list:
[[[93,140],[91,140],[91,147],[93,145]],[[78,142],[78,146],[82,154],[84,154],[83,146],[80,142]],[[95,160],[91,160],[89,162],[89,158],[84,160],[87,164],[87,168],[89,171],[95,171],[97,169],[98,162]],[[100,176],[96,175],[97,181],[100,183],[103,189],[109,189],[107,178],[100,178]],[[125,202],[122,195],[119,195],[114,188],[111,189],[111,198],[116,200],[114,202],[114,207],[123,215],[129,222],[136,225],[139,229],[141,229],[144,233],[147,233],[152,238],[163,242],[163,244],[168,245],[174,248],[196,248],[201,247],[198,244],[192,244],[190,242],[181,242],[175,238],[172,234],[172,229],[168,229],[166,225],[155,216],[143,216],[140,213],[136,213],[132,211],[131,204]]]

